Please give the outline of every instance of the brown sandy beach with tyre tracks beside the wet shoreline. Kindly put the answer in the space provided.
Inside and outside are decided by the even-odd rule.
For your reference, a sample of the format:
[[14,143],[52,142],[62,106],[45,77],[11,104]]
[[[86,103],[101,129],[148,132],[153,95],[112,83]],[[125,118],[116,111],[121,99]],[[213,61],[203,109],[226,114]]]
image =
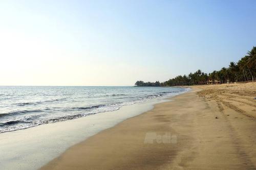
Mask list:
[[256,83],[193,86],[41,169],[256,169]]

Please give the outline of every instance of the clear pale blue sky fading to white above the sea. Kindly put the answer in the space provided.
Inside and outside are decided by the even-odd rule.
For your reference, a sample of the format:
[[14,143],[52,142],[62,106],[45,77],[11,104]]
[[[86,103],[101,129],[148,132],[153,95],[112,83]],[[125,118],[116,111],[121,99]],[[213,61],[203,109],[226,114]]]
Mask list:
[[0,85],[131,86],[237,62],[256,1],[0,0]]

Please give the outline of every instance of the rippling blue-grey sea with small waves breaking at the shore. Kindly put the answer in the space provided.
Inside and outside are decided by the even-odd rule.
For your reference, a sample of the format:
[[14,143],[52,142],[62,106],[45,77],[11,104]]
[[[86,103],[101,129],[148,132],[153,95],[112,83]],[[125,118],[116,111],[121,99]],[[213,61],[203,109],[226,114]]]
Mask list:
[[113,111],[187,91],[178,87],[0,86],[0,133]]

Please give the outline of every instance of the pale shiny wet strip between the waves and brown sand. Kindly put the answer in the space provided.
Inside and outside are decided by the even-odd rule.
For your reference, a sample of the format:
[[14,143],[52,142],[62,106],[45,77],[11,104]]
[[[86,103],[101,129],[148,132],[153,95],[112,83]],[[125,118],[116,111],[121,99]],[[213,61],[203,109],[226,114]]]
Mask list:
[[72,145],[111,128],[129,117],[151,110],[156,103],[165,101],[169,100],[166,97],[155,98],[125,105],[115,111],[1,133],[0,167],[12,170],[38,169]]

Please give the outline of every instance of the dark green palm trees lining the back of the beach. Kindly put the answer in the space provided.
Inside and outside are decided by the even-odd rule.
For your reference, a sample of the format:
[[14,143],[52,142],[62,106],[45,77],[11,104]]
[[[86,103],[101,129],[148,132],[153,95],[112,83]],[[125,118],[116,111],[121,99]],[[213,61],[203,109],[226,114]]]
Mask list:
[[200,69],[194,73],[184,76],[177,76],[168,81],[160,83],[144,83],[137,81],[136,86],[180,86],[180,85],[199,85],[199,84],[217,84],[231,82],[246,82],[256,80],[256,47],[253,46],[247,55],[241,58],[237,63],[230,62],[228,68],[214,70],[209,74],[202,72]]

